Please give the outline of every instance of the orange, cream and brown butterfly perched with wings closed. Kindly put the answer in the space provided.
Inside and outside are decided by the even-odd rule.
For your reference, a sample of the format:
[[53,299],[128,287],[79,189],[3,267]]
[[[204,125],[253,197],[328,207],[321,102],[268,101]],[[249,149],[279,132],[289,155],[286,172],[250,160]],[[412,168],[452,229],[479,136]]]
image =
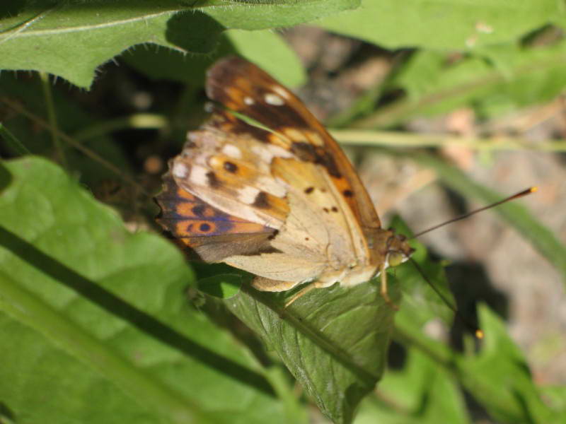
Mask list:
[[350,287],[413,252],[381,228],[374,205],[337,142],[291,91],[241,57],[207,72],[209,119],[169,163],[158,223],[207,262],[255,274],[284,291],[309,283]]

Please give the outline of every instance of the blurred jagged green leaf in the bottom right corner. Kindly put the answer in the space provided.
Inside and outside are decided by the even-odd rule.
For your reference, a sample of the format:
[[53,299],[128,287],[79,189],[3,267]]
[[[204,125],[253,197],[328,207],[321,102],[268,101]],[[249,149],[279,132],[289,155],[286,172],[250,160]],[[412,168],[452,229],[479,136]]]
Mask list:
[[[395,339],[405,348],[417,349],[437,364],[437,372],[451,372],[490,415],[503,423],[560,423],[566,411],[543,402],[529,366],[506,334],[504,324],[487,307],[480,307],[480,327],[485,339],[478,354],[456,353],[415,329],[410,322],[396,322]],[[381,389],[381,386],[380,386]]]

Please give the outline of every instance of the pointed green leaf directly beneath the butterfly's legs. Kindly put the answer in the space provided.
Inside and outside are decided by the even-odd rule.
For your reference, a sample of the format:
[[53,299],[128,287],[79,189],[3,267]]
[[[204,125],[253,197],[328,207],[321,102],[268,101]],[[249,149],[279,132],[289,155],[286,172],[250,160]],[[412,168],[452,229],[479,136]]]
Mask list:
[[[390,295],[398,302],[391,278]],[[229,309],[277,352],[320,411],[350,423],[359,401],[380,379],[393,328],[393,309],[375,281],[312,290],[289,307],[282,296],[243,286]]]

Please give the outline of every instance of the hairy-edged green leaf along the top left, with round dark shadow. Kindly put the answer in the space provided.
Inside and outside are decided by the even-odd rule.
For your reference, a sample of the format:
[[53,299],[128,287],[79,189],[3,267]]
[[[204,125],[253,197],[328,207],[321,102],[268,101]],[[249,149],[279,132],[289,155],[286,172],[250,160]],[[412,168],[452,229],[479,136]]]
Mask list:
[[98,66],[134,45],[209,53],[226,29],[280,28],[358,5],[359,0],[38,1],[15,14],[0,10],[0,68],[45,71],[88,88]]

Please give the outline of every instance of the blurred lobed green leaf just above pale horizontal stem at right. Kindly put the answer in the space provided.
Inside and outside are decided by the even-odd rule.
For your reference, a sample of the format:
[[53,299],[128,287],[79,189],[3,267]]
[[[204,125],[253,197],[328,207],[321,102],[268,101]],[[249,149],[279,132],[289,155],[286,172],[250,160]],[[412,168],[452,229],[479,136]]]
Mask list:
[[486,47],[454,64],[447,59],[440,52],[415,52],[391,81],[406,97],[355,126],[390,126],[466,105],[490,116],[548,101],[566,87],[566,40],[548,47]]

